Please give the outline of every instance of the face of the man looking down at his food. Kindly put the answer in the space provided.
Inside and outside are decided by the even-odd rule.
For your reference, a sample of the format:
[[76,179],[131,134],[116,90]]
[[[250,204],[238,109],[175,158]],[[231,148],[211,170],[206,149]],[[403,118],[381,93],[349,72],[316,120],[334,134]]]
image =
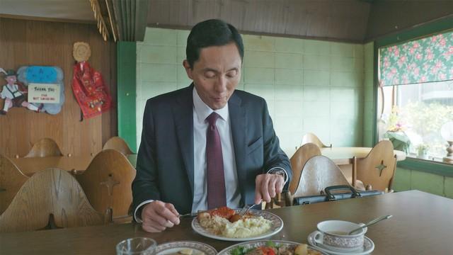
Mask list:
[[228,103],[241,79],[241,64],[241,56],[234,42],[203,48],[192,69],[187,60],[183,62],[198,95],[212,110],[224,108]]

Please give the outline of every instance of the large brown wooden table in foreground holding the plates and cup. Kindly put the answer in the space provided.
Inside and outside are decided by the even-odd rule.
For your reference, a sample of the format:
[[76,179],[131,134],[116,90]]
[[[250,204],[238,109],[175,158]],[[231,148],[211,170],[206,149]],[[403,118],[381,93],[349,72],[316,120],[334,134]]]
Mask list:
[[[403,191],[270,210],[282,218],[274,240],[307,242],[323,220],[367,222],[382,215],[391,219],[369,227],[372,254],[453,254],[453,200],[422,191]],[[103,225],[0,234],[1,254],[115,254],[115,245],[130,237],[150,237],[158,244],[192,240],[217,251],[235,244],[202,237],[191,227],[193,218],[161,233],[144,232],[140,225]]]

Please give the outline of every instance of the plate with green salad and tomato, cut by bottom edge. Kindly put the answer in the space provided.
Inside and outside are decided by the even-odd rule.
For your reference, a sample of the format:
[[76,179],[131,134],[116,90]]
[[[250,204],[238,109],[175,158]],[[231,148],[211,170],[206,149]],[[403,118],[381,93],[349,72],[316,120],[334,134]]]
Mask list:
[[307,244],[290,241],[256,240],[234,244],[217,255],[326,255]]

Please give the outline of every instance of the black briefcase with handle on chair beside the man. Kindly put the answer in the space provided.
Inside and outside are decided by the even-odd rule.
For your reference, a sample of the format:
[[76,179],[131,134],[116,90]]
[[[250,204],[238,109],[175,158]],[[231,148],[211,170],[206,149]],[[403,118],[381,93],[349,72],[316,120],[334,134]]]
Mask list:
[[[333,191],[343,191],[347,190],[348,192],[345,193],[332,193]],[[299,198],[294,198],[293,205],[306,205],[311,203],[320,203],[326,201],[333,201],[333,200],[342,200],[348,198],[361,198],[365,196],[375,196],[375,195],[382,195],[384,191],[356,191],[355,188],[348,185],[338,185],[338,186],[330,186],[324,188],[324,195],[317,195],[317,196],[304,196]]]

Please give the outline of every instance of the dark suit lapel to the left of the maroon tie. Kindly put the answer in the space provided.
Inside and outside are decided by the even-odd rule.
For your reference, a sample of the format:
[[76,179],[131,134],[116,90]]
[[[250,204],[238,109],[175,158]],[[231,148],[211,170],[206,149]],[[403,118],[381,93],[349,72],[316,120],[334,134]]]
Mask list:
[[185,89],[173,107],[178,145],[193,194],[193,85]]

